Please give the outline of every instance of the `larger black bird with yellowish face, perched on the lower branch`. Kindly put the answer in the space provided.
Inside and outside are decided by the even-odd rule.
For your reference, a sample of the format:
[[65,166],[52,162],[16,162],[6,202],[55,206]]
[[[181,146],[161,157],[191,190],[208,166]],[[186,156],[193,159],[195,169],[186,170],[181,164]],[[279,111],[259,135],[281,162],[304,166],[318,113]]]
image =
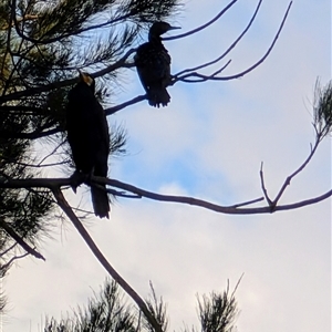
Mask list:
[[[76,166],[74,177],[82,174],[107,176],[108,125],[94,89],[94,79],[80,72],[80,82],[69,93],[66,131]],[[92,205],[97,217],[108,219],[110,201],[105,186],[102,187],[91,187]]]

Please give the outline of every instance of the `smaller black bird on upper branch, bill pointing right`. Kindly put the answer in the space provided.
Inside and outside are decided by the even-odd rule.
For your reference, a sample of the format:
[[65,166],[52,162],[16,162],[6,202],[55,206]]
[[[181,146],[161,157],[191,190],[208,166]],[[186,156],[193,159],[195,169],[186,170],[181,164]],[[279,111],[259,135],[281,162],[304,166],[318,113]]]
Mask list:
[[148,42],[138,46],[134,58],[138,76],[152,106],[166,106],[170,96],[166,90],[170,82],[170,56],[162,43],[160,35],[180,29],[166,22],[155,22],[148,32]]

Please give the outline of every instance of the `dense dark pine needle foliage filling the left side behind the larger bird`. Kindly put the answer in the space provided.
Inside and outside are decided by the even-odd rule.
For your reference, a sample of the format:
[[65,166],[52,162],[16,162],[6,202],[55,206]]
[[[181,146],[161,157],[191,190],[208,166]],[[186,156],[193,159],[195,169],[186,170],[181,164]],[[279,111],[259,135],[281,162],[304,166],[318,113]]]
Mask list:
[[[12,0],[0,3],[0,178],[35,178],[48,156],[35,144],[54,145],[56,165],[73,170],[65,144],[64,112],[77,70],[103,71],[103,86],[117,84],[123,58],[151,22],[176,12],[177,0]],[[105,19],[106,18],[106,19]],[[101,102],[110,91],[97,86]],[[125,134],[113,131],[111,153],[124,151]],[[70,168],[71,167],[71,168]],[[0,191],[1,276],[34,248],[54,224],[48,188]],[[58,218],[59,219],[59,218]],[[23,249],[23,250],[22,250]]]

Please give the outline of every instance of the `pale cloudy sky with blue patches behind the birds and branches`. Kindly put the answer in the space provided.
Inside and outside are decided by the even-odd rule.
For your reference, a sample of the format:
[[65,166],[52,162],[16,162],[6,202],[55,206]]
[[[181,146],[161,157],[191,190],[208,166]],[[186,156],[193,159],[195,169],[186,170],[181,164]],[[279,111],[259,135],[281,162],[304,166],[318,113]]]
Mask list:
[[[190,0],[172,23],[188,31],[228,1]],[[238,1],[212,27],[165,42],[173,73],[217,58],[243,30],[257,1]],[[250,32],[227,58],[222,75],[255,63],[269,48],[288,7],[264,0]],[[177,83],[160,110],[142,102],[110,117],[128,131],[128,155],[111,160],[110,177],[148,190],[188,195],[220,205],[262,196],[260,163],[271,197],[307,158],[314,142],[315,80],[331,76],[328,0],[294,0],[270,56],[240,80]],[[170,34],[170,33],[169,33]],[[226,62],[224,62],[226,63]],[[206,72],[208,73],[208,72]],[[121,103],[143,93],[134,71]],[[281,204],[331,188],[331,142],[291,181]],[[89,198],[89,196],[86,196]],[[91,208],[86,200],[85,208]],[[231,289],[241,332],[328,332],[331,328],[331,203],[260,216],[227,216],[197,207],[120,199],[107,220],[89,231],[115,269],[143,297],[153,281],[167,302],[170,330],[198,326],[196,294]],[[60,318],[85,304],[106,276],[70,224],[45,240],[46,262],[28,258],[4,281],[9,311],[3,331],[42,331],[45,314]]]

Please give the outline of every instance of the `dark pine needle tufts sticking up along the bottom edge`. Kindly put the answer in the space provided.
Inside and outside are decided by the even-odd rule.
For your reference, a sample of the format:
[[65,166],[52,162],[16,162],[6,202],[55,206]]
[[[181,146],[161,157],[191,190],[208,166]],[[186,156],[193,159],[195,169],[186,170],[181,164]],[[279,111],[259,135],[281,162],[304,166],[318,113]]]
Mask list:
[[[168,330],[167,308],[158,299],[151,284],[151,298],[146,301],[149,311]],[[235,290],[236,291],[236,290]],[[235,332],[234,322],[238,314],[235,291],[214,292],[198,301],[201,332]],[[154,332],[144,314],[126,303],[126,299],[115,281],[106,279],[100,293],[89,299],[85,308],[77,308],[72,314],[56,321],[46,319],[44,332]],[[185,330],[187,331],[187,329]],[[197,329],[193,328],[193,332]]]

